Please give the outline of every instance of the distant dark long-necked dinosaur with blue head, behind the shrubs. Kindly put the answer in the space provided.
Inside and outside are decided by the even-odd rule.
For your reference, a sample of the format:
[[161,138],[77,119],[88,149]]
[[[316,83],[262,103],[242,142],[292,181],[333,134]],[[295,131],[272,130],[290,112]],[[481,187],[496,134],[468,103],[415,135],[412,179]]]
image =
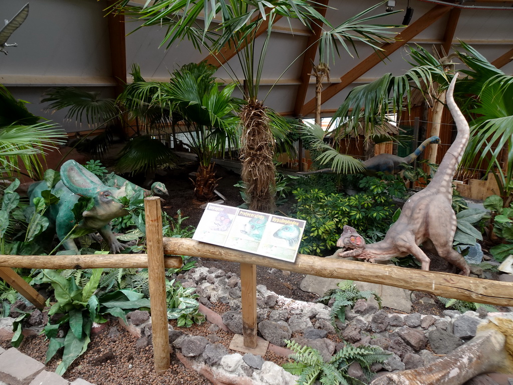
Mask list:
[[[438,144],[440,143],[439,137],[431,137],[426,139],[421,143],[419,147],[407,157],[401,158],[397,155],[392,155],[391,153],[381,153],[375,157],[367,159],[365,162],[362,162],[365,166],[366,170],[364,174],[374,175],[377,172],[381,171],[385,174],[398,174],[404,169],[405,164],[410,164],[414,160],[416,160],[419,155],[424,151],[424,149],[429,144]],[[323,168],[321,170],[315,171],[306,171],[306,172],[298,172],[300,175],[311,175],[311,174],[337,174],[337,171],[332,168]]]

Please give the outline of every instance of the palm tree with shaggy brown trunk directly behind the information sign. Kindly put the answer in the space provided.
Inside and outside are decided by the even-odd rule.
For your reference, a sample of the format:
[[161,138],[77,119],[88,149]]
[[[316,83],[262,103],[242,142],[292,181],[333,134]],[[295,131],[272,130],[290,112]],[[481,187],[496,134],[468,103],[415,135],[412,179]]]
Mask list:
[[[304,0],[200,0],[194,3],[188,0],[155,0],[151,6],[148,6],[149,1],[146,2],[143,8],[130,7],[128,3],[129,0],[118,0],[113,8],[141,19],[141,27],[168,26],[162,45],[169,47],[187,37],[196,48],[206,47],[211,53],[222,53],[223,47],[228,45],[235,47],[244,78],[238,79],[230,68],[226,70],[237,81],[246,101],[240,111],[243,124],[242,179],[247,186],[250,209],[264,212],[271,212],[274,207],[274,140],[269,128],[268,109],[264,101],[259,100],[259,86],[274,22],[283,16],[298,19],[308,27],[311,21],[323,23],[326,31],[320,47],[322,62],[325,63],[338,52],[337,42],[349,52],[347,42],[352,46],[355,41],[373,45],[386,39],[387,33],[393,33],[386,31],[387,28],[395,27],[365,24],[371,18],[384,14],[362,17],[363,13],[333,27],[315,8],[317,4]],[[199,17],[204,23],[196,22]],[[216,17],[221,18],[220,23],[213,23]],[[267,23],[267,33],[264,34],[263,47],[257,49],[255,35],[264,23]]]

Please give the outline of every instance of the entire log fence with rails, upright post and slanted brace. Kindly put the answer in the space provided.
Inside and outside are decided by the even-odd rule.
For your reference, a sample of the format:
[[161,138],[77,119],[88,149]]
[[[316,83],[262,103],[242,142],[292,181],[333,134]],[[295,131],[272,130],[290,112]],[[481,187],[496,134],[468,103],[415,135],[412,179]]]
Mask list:
[[[455,274],[426,272],[392,265],[344,259],[326,259],[305,254],[298,254],[295,262],[292,263],[201,243],[188,238],[163,238],[160,200],[146,198],[145,211],[148,254],[0,255],[0,277],[35,306],[42,308],[45,305],[45,299],[19,277],[12,270],[12,267],[50,269],[148,267],[152,310],[151,322],[154,333],[154,367],[155,371],[160,373],[164,373],[169,368],[167,303],[165,282],[163,281],[164,268],[181,267],[182,258],[177,257],[181,255],[238,262],[241,263],[241,266],[261,265],[319,277],[379,283],[464,301],[513,306],[513,283],[469,278]],[[245,279],[245,276],[253,275],[241,274],[242,285],[246,287],[248,293],[256,293],[256,282],[254,279]],[[246,340],[252,340],[251,337],[256,336],[257,333],[255,310],[255,306],[243,306],[242,308],[243,320],[246,321],[247,326],[251,326],[249,329],[252,329],[244,331],[245,337],[246,334],[248,335],[248,338],[244,339],[245,345]]]

